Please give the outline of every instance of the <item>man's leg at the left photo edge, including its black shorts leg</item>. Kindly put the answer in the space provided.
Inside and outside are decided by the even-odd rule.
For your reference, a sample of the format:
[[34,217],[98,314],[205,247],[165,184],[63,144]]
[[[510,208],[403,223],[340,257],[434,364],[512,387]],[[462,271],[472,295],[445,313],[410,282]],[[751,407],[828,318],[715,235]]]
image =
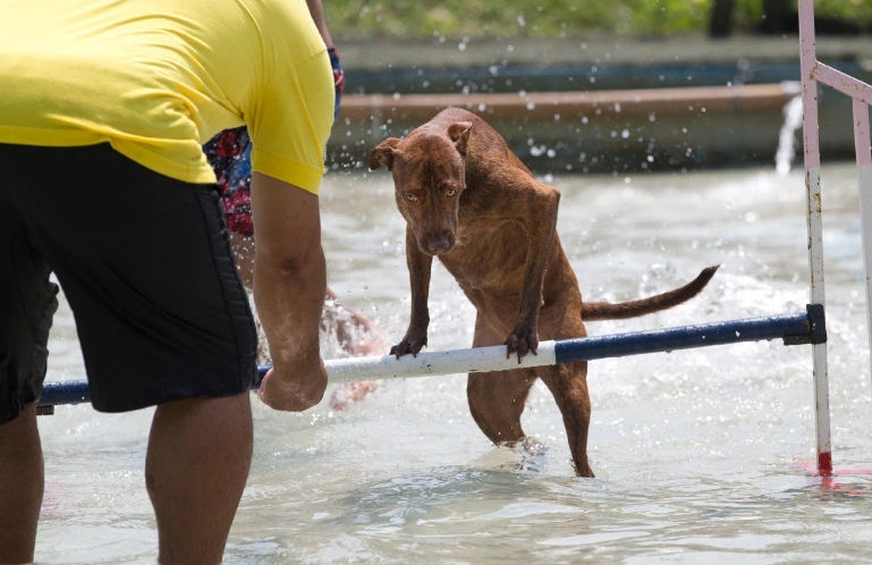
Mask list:
[[[44,488],[37,399],[58,287],[10,198],[20,161],[0,145],[0,563],[33,560]],[[44,165],[44,164],[42,164]]]

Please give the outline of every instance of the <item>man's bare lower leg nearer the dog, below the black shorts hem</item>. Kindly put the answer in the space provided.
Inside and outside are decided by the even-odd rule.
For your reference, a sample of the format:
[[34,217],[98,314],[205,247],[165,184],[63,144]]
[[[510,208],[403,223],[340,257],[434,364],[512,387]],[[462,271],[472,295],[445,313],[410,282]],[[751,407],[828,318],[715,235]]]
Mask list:
[[192,398],[154,412],[146,487],[160,563],[219,563],[249,473],[249,393]]

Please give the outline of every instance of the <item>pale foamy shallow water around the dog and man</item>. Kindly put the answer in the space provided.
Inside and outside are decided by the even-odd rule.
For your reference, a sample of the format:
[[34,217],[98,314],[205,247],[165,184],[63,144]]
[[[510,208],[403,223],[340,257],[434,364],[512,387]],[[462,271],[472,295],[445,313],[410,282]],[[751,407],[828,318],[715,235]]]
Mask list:
[[[824,167],[833,455],[872,466],[872,406],[854,169]],[[723,266],[691,303],[589,323],[591,334],[804,310],[802,173],[559,176],[559,229],[590,299],[623,300]],[[404,225],[386,174],[330,174],[330,285],[392,343],[408,322]],[[474,313],[433,276],[430,348],[467,347]],[[62,307],[50,378],[81,378]],[[325,344],[324,355],[339,355]],[[540,443],[497,448],[467,410],[465,378],[385,382],[345,412],[255,404],[255,457],[228,563],[865,562],[870,474],[822,484],[811,350],[734,344],[592,362],[589,453],[569,464],[544,386],[524,425]],[[40,419],[46,496],[39,562],[154,562],[142,466],[151,411],[60,406]]]

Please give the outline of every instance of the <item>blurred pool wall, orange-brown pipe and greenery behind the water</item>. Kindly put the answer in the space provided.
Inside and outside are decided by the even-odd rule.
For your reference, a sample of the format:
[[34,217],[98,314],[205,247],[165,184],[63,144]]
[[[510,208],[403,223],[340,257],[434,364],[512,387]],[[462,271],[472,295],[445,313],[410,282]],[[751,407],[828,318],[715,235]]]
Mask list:
[[[346,96],[328,149],[445,106],[480,112],[537,172],[772,164],[800,142],[795,0],[326,0]],[[872,3],[815,3],[818,58],[872,82]],[[791,109],[793,108],[793,109]],[[853,159],[850,102],[821,92],[824,159]],[[782,150],[787,147],[781,143]]]

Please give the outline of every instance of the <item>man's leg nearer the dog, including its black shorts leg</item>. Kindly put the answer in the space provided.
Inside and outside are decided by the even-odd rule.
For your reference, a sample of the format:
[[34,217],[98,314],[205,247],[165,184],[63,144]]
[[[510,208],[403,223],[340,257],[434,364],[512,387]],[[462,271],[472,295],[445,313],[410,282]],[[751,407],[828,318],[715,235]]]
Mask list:
[[257,368],[217,191],[108,146],[9,153],[28,163],[11,192],[75,315],[92,405],[158,406],[146,486],[160,561],[221,562],[249,471]]

